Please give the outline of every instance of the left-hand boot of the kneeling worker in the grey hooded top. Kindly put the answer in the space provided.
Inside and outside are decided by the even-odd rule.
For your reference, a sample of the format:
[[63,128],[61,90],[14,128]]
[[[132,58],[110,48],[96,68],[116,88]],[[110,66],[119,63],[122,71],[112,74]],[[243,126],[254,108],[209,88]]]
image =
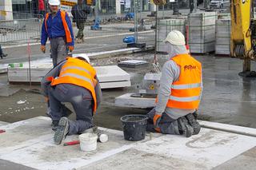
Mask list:
[[189,125],[185,117],[178,118],[178,130],[181,135],[186,137],[192,136],[194,129]]

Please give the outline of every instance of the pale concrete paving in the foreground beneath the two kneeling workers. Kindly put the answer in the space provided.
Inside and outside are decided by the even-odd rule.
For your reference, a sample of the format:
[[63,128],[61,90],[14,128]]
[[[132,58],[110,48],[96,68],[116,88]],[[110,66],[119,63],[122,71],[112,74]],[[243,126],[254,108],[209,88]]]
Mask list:
[[[239,156],[256,157],[255,152],[250,152],[256,146],[255,137],[208,128],[190,138],[154,133],[152,140],[146,136],[140,142],[126,141],[121,131],[102,128],[109,141],[98,143],[97,151],[82,152],[79,145],[55,145],[47,117],[4,127],[0,162],[10,167],[18,164],[36,169],[211,169],[225,167]],[[75,139],[78,136],[68,136],[66,141]],[[244,163],[247,160],[250,159],[244,159]],[[248,164],[249,168],[253,165]]]

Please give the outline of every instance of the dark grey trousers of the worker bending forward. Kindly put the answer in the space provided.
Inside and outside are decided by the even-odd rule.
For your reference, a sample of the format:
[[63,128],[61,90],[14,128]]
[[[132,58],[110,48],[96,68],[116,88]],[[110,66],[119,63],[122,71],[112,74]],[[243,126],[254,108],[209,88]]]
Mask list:
[[69,102],[76,113],[76,121],[69,121],[68,135],[77,134],[93,126],[93,98],[89,90],[78,85],[59,84],[49,89],[52,121],[64,117],[62,102]]

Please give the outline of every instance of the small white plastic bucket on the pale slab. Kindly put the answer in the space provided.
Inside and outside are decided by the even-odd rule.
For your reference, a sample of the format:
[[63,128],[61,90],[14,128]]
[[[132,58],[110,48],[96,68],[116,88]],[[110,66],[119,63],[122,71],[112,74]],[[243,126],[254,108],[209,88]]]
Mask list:
[[83,133],[79,135],[80,148],[82,151],[94,151],[97,148],[98,136],[94,133]]

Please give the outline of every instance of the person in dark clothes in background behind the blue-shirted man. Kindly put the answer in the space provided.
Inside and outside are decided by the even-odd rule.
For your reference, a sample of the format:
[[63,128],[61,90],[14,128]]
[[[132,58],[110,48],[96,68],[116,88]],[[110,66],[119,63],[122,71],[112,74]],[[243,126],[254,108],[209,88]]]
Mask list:
[[86,1],[78,0],[78,3],[72,7],[71,14],[73,15],[73,22],[76,22],[78,27],[78,43],[84,42],[83,30],[85,28],[87,14],[90,14],[90,6],[86,5]]

